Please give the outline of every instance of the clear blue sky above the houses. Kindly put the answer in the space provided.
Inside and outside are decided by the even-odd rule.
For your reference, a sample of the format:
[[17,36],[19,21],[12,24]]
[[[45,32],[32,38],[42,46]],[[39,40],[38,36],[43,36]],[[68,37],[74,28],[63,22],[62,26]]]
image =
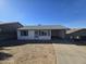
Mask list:
[[0,23],[86,27],[86,0],[0,0]]

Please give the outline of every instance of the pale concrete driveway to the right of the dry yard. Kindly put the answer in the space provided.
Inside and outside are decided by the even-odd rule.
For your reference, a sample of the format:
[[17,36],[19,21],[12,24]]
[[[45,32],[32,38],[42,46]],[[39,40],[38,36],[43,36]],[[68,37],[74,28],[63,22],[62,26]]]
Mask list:
[[57,64],[86,64],[86,49],[74,44],[53,43]]

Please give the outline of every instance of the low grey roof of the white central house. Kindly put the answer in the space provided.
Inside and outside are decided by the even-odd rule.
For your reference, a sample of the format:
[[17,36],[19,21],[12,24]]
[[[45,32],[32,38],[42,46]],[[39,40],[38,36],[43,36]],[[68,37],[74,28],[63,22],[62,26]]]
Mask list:
[[61,25],[38,25],[38,26],[24,26],[19,29],[66,29],[66,27]]

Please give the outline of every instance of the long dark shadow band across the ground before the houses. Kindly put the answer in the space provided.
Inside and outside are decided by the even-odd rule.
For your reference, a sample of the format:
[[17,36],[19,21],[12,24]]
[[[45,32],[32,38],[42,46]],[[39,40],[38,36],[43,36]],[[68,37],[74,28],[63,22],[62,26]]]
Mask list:
[[4,40],[0,41],[0,47],[14,47],[22,46],[27,43],[60,43],[60,44],[77,44],[77,46],[86,46],[86,41],[66,41],[66,40]]

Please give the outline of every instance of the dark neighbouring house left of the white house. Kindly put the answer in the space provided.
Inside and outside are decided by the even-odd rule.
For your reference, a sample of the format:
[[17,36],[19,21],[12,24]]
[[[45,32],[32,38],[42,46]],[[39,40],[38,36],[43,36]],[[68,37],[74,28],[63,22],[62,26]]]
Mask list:
[[0,23],[0,40],[17,38],[17,28],[23,27],[19,22]]

